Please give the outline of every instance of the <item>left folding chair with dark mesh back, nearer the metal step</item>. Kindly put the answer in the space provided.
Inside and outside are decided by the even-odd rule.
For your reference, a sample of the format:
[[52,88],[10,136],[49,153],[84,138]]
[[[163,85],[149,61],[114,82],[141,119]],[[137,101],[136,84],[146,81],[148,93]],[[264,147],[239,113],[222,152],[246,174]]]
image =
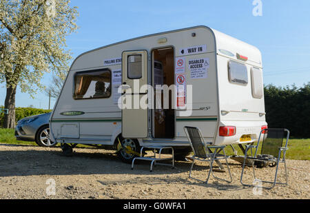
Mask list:
[[[189,179],[194,179],[196,181],[200,181],[203,183],[208,183],[209,178],[210,178],[210,174],[212,174],[212,176],[214,176],[213,172],[212,172],[212,168],[213,168],[213,163],[214,161],[218,161],[220,159],[225,159],[226,160],[226,165],[227,165],[227,169],[229,172],[229,176],[230,176],[230,181],[225,180],[225,179],[220,179],[216,176],[214,176],[215,179],[218,179],[220,181],[226,181],[227,183],[231,183],[232,182],[232,177],[231,177],[231,172],[229,170],[229,165],[227,162],[227,156],[225,154],[225,145],[222,146],[216,146],[216,145],[207,145],[207,143],[205,143],[205,140],[203,139],[203,136],[200,132],[200,130],[198,128],[194,128],[194,127],[185,127],[184,128],[185,134],[187,135],[187,138],[189,140],[189,142],[192,145],[192,149],[194,151],[194,156],[192,156],[192,165],[191,168],[189,170]],[[214,152],[211,152],[211,150],[214,149]],[[219,154],[221,151],[223,150],[224,155],[223,154]],[[206,181],[202,181],[200,179],[196,179],[194,177],[192,177],[192,170],[194,167],[194,163],[195,161],[207,161],[210,162],[209,164],[209,173],[207,176],[207,180]]]

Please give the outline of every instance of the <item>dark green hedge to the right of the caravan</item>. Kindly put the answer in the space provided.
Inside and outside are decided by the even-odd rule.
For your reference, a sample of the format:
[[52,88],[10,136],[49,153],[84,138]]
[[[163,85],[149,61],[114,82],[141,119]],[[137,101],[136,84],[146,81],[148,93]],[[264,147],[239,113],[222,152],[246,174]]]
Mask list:
[[293,137],[310,138],[310,83],[302,88],[265,86],[265,106],[269,128],[287,128]]

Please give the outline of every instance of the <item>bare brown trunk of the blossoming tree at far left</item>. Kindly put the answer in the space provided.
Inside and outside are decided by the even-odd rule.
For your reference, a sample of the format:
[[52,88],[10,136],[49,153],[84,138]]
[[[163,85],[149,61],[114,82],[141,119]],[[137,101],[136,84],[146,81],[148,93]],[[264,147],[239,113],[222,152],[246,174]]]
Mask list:
[[8,114],[4,114],[3,128],[13,129],[15,128],[15,95],[16,89],[9,87],[6,89],[6,101],[4,103],[4,108],[8,109]]

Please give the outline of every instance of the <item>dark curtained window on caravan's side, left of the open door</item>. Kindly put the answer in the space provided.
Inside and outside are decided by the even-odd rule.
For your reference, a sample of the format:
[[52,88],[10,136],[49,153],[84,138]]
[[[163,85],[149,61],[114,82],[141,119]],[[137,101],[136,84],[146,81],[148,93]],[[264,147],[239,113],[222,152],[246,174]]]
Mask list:
[[111,96],[111,71],[76,72],[74,99],[105,99]]

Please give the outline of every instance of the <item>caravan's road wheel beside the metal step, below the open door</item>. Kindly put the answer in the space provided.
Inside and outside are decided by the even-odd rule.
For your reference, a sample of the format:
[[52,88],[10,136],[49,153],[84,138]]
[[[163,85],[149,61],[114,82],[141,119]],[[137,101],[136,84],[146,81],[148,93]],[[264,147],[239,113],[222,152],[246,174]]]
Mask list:
[[132,163],[132,160],[136,157],[136,154],[132,152],[140,152],[141,150],[138,141],[136,139],[124,139],[121,136],[118,139],[121,141],[121,147],[118,145],[118,157],[125,163]]

